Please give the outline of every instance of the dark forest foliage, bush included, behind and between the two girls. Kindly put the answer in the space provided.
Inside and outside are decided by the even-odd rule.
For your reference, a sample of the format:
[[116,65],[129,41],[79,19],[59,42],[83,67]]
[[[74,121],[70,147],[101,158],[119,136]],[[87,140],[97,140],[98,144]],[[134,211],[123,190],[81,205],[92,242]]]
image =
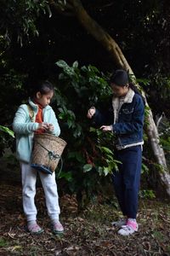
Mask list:
[[[0,9],[0,154],[8,172],[19,166],[14,137],[8,130],[14,113],[26,102],[40,79],[55,86],[52,107],[67,142],[59,173],[59,195],[76,195],[78,210],[89,201],[112,202],[111,172],[116,170],[114,137],[102,136],[86,118],[92,105],[106,108],[111,99],[108,83],[117,68],[135,75],[149,106],[145,110],[144,157],[140,198],[170,196],[170,5],[168,1],[111,0],[1,0]],[[88,16],[87,16],[88,15]],[[111,41],[113,39],[113,41]],[[110,44],[111,43],[111,44]],[[114,50],[118,51],[118,57]],[[120,60],[119,61],[119,57]],[[130,63],[127,64],[127,63]],[[157,137],[147,132],[153,114]],[[166,165],[151,145],[158,139]],[[11,171],[12,170],[12,171]],[[166,173],[162,176],[162,173]],[[9,178],[5,183],[8,184]],[[112,186],[112,185],[111,185]]]

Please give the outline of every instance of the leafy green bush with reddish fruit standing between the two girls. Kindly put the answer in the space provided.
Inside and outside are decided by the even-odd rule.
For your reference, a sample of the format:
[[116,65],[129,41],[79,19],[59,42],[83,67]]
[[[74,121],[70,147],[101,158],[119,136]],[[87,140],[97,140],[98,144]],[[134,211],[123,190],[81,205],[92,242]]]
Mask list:
[[111,88],[103,73],[96,67],[78,67],[75,61],[68,66],[65,61],[58,61],[62,68],[59,74],[59,85],[56,88],[54,106],[59,111],[61,137],[67,141],[65,149],[64,170],[59,177],[69,182],[70,192],[76,192],[79,200],[82,195],[91,198],[105,176],[116,170],[113,154],[112,133],[104,133],[90,128],[87,119],[88,108],[107,105],[111,99]]

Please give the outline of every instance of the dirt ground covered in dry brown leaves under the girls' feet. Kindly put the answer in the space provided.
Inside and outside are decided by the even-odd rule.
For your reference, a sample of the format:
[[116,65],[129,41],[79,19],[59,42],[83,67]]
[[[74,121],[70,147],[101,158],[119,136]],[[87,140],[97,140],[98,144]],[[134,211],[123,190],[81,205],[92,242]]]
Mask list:
[[77,214],[74,196],[60,198],[63,236],[51,233],[43,192],[37,189],[38,223],[44,232],[26,232],[20,184],[0,184],[0,255],[170,255],[170,206],[167,201],[139,201],[139,232],[119,236],[111,221],[114,205],[95,202]]

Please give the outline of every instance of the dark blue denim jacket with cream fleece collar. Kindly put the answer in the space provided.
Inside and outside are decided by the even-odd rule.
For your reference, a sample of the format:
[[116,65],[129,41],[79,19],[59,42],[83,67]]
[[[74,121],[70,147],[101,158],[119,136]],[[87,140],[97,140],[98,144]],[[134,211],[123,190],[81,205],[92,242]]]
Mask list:
[[142,97],[129,89],[121,105],[113,97],[112,106],[107,113],[96,109],[94,125],[112,125],[116,134],[117,148],[126,148],[131,144],[143,144],[144,102]]

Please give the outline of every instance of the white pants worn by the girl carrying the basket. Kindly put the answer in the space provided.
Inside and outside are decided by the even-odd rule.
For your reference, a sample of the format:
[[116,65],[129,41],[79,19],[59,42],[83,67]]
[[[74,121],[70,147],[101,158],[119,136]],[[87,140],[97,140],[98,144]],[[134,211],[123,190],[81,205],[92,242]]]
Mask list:
[[[36,195],[37,171],[31,168],[30,164],[20,162],[22,175],[22,198],[23,208],[27,221],[37,219],[37,207],[35,206],[34,197]],[[45,194],[48,216],[51,219],[59,219],[59,196],[57,184],[55,182],[55,173],[52,175],[38,172],[42,188]]]

